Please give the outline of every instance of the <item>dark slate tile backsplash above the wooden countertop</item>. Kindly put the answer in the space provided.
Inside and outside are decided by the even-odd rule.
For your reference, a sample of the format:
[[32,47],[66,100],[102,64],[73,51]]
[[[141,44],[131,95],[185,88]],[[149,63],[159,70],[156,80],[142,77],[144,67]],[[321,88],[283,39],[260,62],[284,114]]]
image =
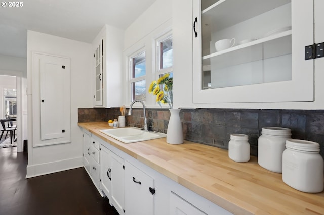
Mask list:
[[[118,118],[119,108],[79,108],[79,122],[107,121]],[[168,109],[146,109],[150,130],[167,133]],[[293,139],[318,142],[324,157],[324,110],[268,109],[181,109],[184,138],[189,141],[228,149],[230,134],[249,135],[251,155],[258,154],[262,127],[285,127]],[[126,125],[144,127],[143,109],[133,109]]]

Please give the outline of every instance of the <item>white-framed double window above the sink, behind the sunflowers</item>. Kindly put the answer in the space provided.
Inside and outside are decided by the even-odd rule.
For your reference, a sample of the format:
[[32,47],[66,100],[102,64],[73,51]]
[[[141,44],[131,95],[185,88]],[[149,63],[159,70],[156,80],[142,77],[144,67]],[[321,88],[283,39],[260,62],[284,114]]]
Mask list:
[[[158,35],[158,36],[156,36]],[[171,27],[158,29],[124,51],[126,103],[145,101],[146,107],[157,108],[156,96],[148,92],[152,81],[165,74],[173,77],[173,40]],[[130,103],[129,103],[130,102]],[[139,105],[141,106],[141,105]],[[168,105],[163,105],[168,108]]]

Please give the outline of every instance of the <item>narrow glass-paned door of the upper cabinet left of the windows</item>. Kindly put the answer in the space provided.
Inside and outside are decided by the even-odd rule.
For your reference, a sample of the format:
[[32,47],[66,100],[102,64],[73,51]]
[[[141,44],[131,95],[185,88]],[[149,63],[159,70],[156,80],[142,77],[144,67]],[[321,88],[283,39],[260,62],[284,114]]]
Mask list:
[[94,54],[95,58],[95,105],[103,105],[103,40],[97,46]]

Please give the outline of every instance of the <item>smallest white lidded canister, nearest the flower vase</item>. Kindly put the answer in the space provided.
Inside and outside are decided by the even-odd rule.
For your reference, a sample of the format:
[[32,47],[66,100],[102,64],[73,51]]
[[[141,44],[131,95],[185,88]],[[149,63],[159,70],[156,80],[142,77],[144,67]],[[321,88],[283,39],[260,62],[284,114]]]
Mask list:
[[250,160],[249,137],[246,134],[231,134],[228,142],[228,157],[235,162],[248,162]]

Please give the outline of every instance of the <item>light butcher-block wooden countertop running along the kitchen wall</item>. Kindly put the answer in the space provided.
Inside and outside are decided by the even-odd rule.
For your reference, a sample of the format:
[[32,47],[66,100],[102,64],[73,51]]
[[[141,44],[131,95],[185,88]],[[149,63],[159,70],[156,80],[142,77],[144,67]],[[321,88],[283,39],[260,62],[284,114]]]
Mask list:
[[289,187],[257,157],[236,163],[227,150],[189,141],[172,145],[166,138],[126,144],[99,131],[110,128],[106,122],[78,125],[234,214],[324,214],[324,192]]

